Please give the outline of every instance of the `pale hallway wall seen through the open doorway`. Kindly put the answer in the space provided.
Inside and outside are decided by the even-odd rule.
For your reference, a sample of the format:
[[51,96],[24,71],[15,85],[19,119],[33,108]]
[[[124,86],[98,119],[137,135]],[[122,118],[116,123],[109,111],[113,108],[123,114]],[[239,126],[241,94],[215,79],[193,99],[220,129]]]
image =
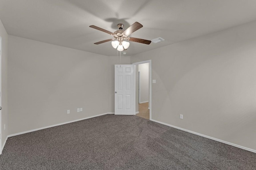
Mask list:
[[138,64],[140,72],[140,102],[149,101],[149,63]]

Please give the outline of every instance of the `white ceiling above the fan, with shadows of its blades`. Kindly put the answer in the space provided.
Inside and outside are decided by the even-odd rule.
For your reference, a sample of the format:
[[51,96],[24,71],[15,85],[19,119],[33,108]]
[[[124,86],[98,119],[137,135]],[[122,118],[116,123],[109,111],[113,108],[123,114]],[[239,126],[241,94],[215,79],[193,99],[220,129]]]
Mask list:
[[115,56],[112,38],[92,29],[124,30],[138,21],[144,27],[131,37],[166,41],[130,42],[127,55],[184,41],[256,20],[256,0],[0,0],[0,19],[9,35]]

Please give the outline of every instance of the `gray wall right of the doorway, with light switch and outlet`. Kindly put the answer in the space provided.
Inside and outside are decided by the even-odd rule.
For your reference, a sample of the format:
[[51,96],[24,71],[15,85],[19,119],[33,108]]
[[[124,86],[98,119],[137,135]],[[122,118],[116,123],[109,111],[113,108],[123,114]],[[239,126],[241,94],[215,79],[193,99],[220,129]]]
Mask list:
[[255,30],[247,23],[132,56],[152,60],[152,119],[256,150]]

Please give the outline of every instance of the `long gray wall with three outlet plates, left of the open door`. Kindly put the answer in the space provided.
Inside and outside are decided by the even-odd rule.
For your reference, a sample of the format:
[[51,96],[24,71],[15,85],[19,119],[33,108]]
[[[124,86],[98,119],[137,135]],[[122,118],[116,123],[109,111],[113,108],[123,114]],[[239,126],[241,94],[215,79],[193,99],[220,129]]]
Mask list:
[[9,135],[114,112],[116,57],[11,35],[8,45]]

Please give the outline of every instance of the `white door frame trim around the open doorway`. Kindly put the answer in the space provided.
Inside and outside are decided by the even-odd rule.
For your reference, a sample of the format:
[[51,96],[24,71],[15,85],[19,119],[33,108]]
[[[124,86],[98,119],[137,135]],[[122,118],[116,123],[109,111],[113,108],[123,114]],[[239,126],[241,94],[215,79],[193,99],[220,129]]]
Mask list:
[[[149,107],[149,119],[150,120],[152,120],[152,105],[151,105],[151,102],[152,102],[152,74],[151,74],[151,60],[146,60],[146,61],[140,61],[140,62],[137,62],[137,63],[132,63],[132,64],[134,64],[134,65],[139,65],[139,64],[144,64],[144,63],[149,63],[148,65],[149,65],[149,102],[148,102],[148,107]],[[136,77],[136,74],[134,74],[135,76],[134,77]],[[136,87],[136,81],[134,81],[134,87]],[[136,89],[135,89],[135,91],[136,91]],[[135,105],[135,107],[134,108],[136,108],[136,95],[134,95],[134,105]]]

